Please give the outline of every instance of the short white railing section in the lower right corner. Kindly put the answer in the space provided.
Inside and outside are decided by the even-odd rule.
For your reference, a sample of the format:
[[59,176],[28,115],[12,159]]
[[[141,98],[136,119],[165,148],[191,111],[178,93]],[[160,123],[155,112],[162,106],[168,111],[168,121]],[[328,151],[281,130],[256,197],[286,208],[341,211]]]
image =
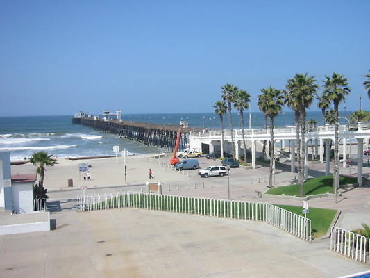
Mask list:
[[330,236],[330,250],[370,265],[370,238],[333,226]]

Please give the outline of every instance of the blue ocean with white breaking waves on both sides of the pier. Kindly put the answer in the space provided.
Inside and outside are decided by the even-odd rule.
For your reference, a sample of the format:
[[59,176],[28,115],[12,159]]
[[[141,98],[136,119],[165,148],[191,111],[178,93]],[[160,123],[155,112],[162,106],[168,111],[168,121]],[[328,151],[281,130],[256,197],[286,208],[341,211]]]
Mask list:
[[[351,112],[347,111],[347,114]],[[113,146],[125,148],[131,154],[149,154],[165,152],[158,147],[142,145],[139,142],[117,138],[108,133],[92,129],[81,124],[72,124],[69,115],[64,116],[29,116],[0,117],[0,151],[10,151],[12,161],[22,161],[34,152],[44,150],[58,158],[78,156],[113,156]],[[263,128],[264,115],[251,113],[251,128]],[[308,111],[307,120],[311,118],[322,124],[321,112]],[[149,122],[157,124],[180,124],[187,121],[191,127],[219,129],[219,116],[215,113],[172,113],[172,114],[128,114],[124,120]],[[275,120],[276,126],[292,126],[294,114],[284,112]],[[224,119],[228,128],[228,117]],[[233,126],[241,127],[237,113],[233,113]],[[244,128],[249,129],[249,113],[244,115]],[[168,152],[168,151],[167,151]]]

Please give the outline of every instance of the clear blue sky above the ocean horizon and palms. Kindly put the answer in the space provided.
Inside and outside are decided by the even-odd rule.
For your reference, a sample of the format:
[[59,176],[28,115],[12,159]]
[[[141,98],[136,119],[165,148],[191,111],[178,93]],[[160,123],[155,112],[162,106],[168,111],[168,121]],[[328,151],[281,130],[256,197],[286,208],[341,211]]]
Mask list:
[[297,72],[344,74],[369,110],[369,21],[369,0],[2,0],[0,116],[212,112],[226,83],[257,111]]

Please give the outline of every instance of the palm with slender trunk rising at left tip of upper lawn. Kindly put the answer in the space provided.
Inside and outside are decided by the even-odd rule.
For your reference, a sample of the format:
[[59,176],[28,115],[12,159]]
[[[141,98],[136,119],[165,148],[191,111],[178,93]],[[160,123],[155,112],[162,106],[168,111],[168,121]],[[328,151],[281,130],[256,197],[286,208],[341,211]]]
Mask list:
[[272,177],[274,174],[275,167],[275,156],[274,156],[274,117],[280,113],[281,108],[284,105],[283,95],[281,90],[276,90],[271,86],[261,90],[262,95],[258,96],[258,108],[266,115],[270,120],[270,169],[269,169],[269,187],[273,186]]

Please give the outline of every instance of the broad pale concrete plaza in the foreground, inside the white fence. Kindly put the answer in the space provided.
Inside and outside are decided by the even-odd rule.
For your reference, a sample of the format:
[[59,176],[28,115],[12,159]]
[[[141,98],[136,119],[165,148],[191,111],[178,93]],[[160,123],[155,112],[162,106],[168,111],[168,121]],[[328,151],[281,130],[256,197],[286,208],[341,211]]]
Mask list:
[[339,277],[368,268],[259,222],[140,209],[54,213],[0,237],[0,277]]

